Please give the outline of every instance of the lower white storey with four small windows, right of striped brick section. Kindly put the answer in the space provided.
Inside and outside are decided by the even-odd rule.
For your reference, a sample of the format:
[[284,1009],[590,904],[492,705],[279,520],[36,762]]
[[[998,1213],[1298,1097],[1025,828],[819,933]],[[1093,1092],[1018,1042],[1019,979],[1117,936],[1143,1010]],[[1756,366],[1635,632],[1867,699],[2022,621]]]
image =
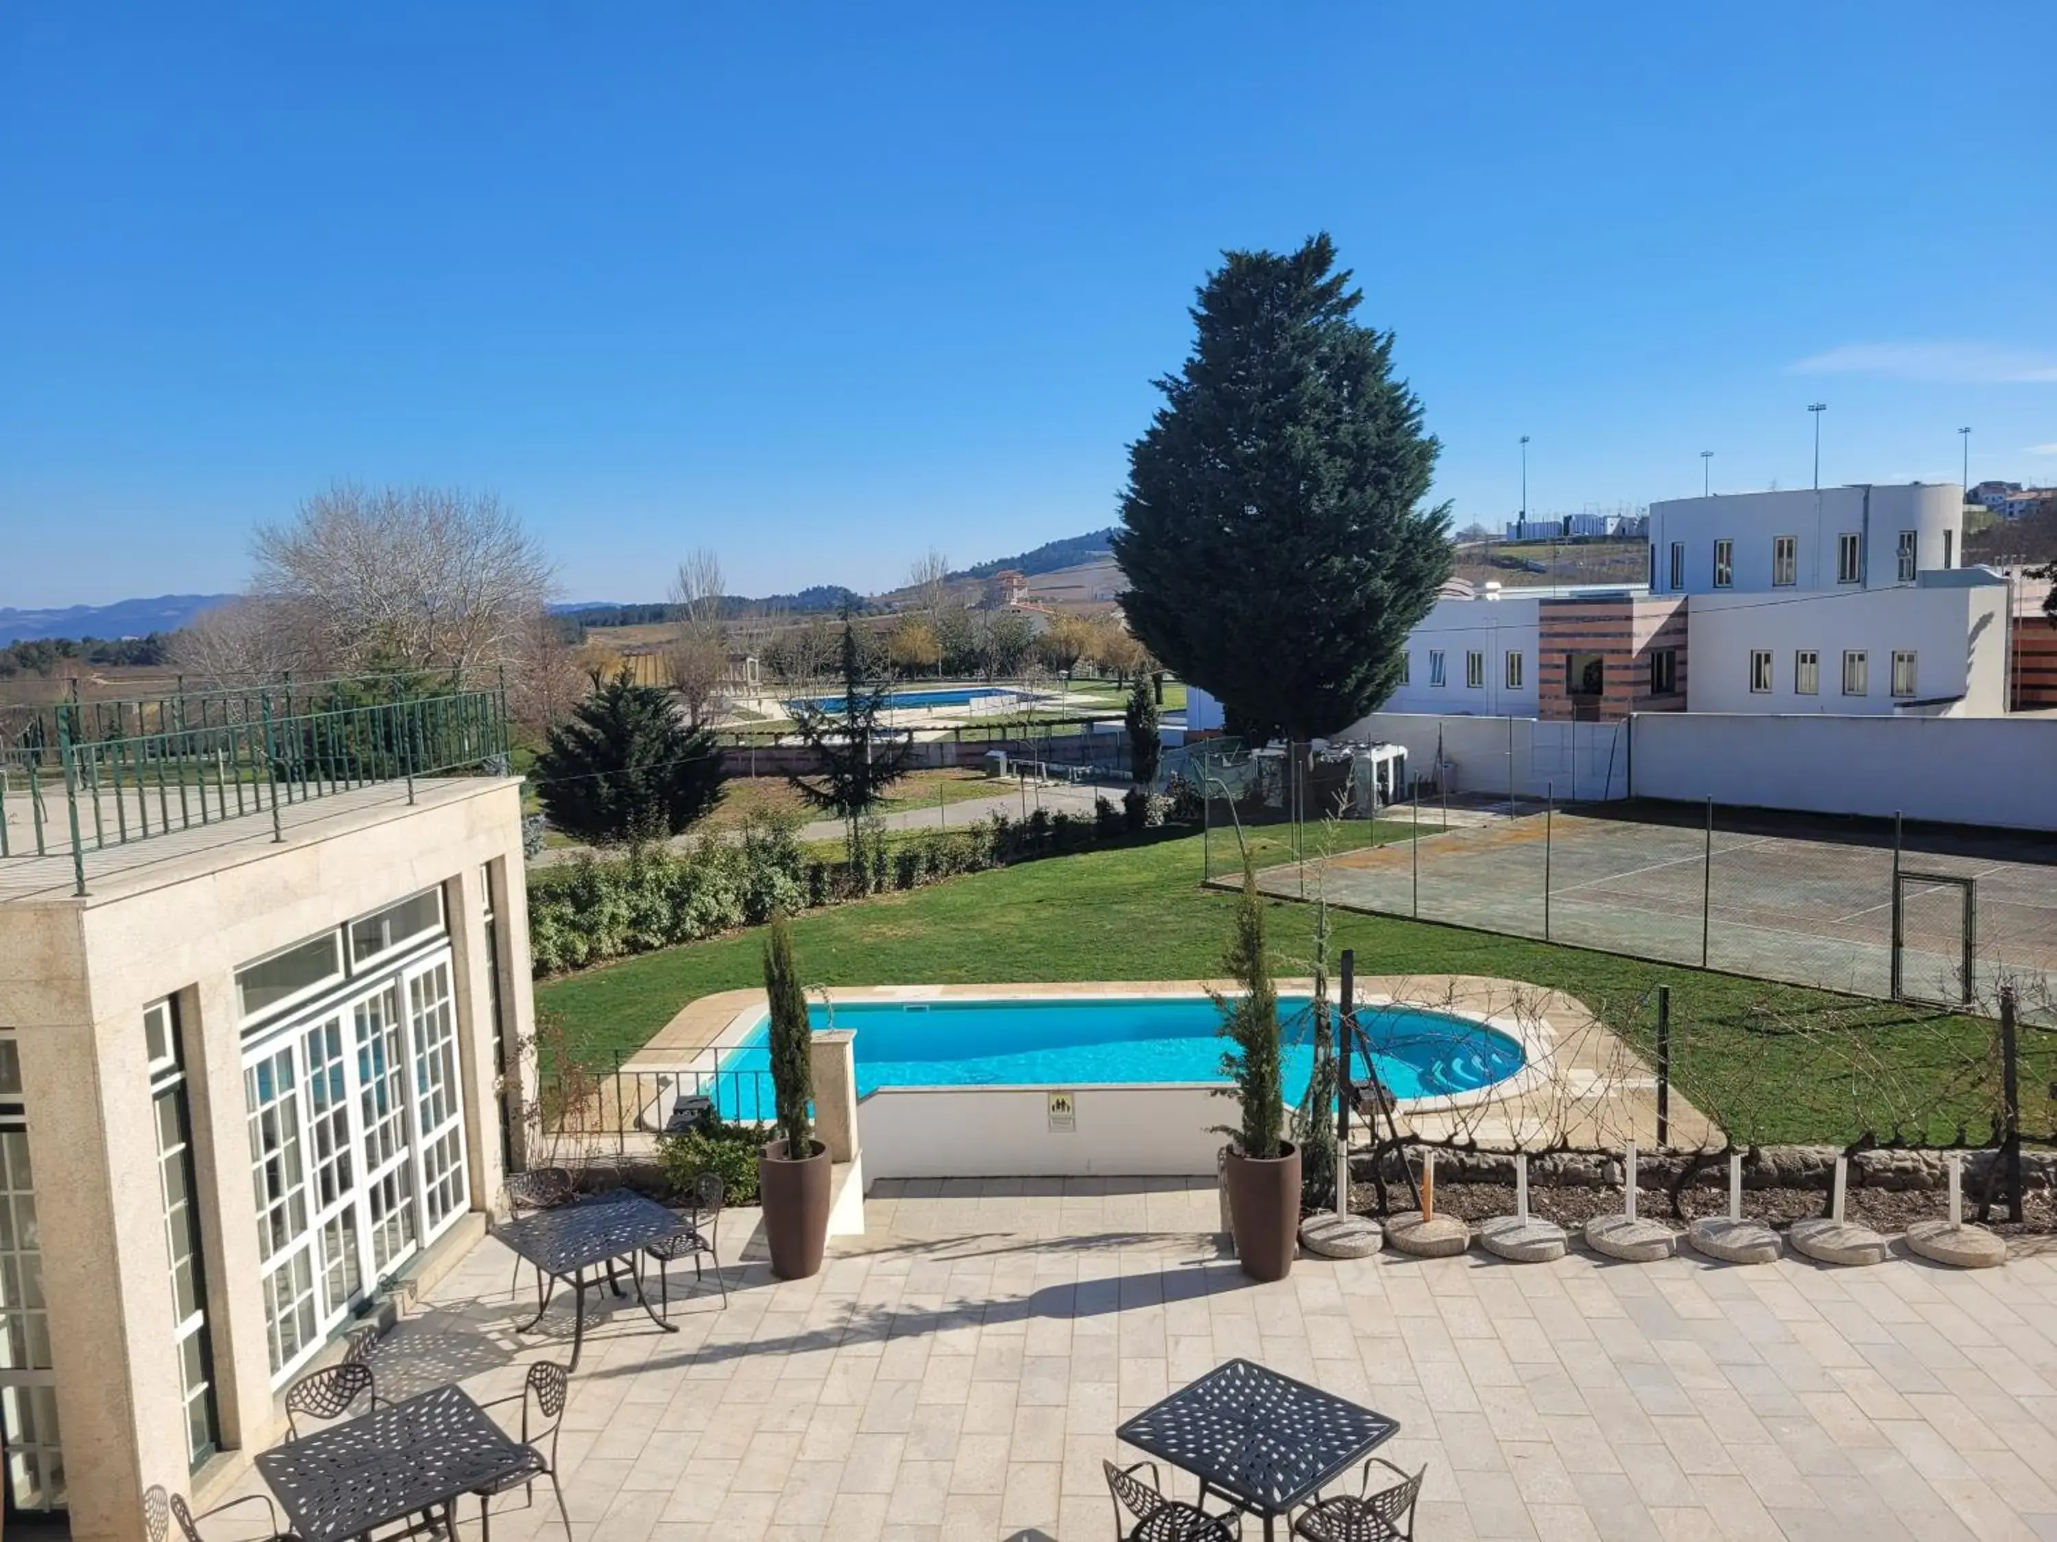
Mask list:
[[[1962,578],[1975,576],[1969,570]],[[1761,594],[1695,594],[1687,607],[1691,711],[1890,715],[1892,654],[1915,654],[1915,701],[1956,697],[1952,713],[1991,715],[2006,701],[2006,584],[1851,590],[1767,602]],[[1751,691],[1751,654],[1771,652],[1771,691]],[[1800,695],[1794,654],[1820,660]],[[1864,652],[1866,695],[1843,695],[1843,654]]]

